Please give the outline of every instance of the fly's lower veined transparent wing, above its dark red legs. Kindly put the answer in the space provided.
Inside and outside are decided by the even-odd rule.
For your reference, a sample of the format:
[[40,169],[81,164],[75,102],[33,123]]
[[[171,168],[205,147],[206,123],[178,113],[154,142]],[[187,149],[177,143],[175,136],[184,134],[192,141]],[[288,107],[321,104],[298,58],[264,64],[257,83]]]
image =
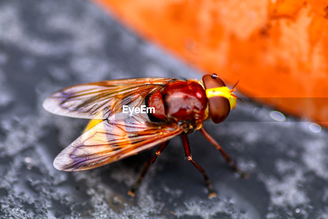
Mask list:
[[137,120],[103,120],[60,152],[53,165],[63,171],[92,169],[166,142],[182,131],[174,123],[160,126]]

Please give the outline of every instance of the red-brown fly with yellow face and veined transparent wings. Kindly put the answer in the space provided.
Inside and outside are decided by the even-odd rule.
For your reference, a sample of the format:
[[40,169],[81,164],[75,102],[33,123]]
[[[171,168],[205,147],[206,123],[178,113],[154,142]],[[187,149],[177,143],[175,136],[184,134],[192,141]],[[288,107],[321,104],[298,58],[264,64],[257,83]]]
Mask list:
[[[91,122],[80,137],[58,154],[53,165],[63,171],[88,170],[159,144],[154,157],[145,162],[128,192],[134,196],[149,165],[170,139],[180,136],[188,161],[203,175],[209,197],[215,197],[207,174],[192,159],[187,135],[199,130],[221,152],[229,166],[245,178],[246,174],[203,126],[208,119],[215,123],[226,119],[236,107],[234,91],[216,74],[204,75],[201,81],[146,77],[92,82],[59,90],[45,99],[43,107],[54,114],[91,119]],[[153,110],[147,112],[143,107]],[[130,109],[128,113],[124,112],[126,108]]]

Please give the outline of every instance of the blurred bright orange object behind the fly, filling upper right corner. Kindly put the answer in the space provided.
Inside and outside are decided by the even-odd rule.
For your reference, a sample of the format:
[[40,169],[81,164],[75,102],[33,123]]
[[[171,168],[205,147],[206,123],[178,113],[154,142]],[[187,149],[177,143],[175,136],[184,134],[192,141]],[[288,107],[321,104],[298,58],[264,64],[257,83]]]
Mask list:
[[328,1],[94,0],[138,33],[281,111],[328,125]]

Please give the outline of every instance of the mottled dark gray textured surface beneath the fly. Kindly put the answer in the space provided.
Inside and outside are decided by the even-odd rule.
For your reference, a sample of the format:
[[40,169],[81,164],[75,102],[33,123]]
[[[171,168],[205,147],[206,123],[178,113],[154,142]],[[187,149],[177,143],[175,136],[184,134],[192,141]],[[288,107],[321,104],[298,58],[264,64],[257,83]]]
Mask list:
[[[173,139],[136,197],[127,195],[155,148],[94,170],[67,173],[54,157],[86,120],[51,115],[42,101],[68,85],[125,77],[200,78],[200,73],[144,42],[90,2],[0,2],[0,217],[3,218],[328,218],[327,130],[267,121],[271,109],[237,105],[229,122],[205,126],[251,177],[235,176],[199,133],[193,159]],[[242,83],[242,82],[240,82]],[[255,107],[263,112],[253,115]],[[252,121],[252,122],[251,122]]]

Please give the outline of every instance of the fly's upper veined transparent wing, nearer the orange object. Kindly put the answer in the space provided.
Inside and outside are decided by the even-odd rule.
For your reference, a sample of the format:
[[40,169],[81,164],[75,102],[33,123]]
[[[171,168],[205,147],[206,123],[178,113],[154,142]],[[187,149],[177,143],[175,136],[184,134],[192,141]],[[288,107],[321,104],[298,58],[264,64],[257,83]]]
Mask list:
[[107,119],[120,110],[122,105],[144,98],[147,92],[169,81],[171,79],[145,77],[74,85],[49,96],[43,102],[43,107],[62,116]]

